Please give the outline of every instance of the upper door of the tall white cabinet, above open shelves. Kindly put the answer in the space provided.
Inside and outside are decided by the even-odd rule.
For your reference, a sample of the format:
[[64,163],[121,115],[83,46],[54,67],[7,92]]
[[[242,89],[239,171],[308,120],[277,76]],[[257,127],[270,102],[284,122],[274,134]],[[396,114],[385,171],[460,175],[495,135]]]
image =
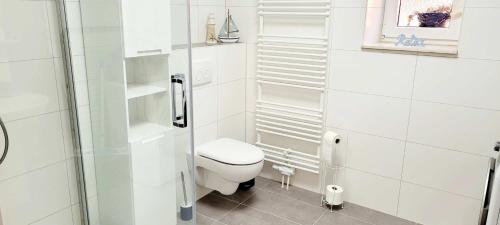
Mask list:
[[168,54],[169,0],[122,0],[125,57]]

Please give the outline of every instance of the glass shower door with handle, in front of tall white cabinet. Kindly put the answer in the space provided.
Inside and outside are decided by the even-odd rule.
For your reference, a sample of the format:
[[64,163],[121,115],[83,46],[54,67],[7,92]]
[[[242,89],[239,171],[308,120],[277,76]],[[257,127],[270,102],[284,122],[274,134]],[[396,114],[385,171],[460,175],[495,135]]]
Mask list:
[[91,225],[195,224],[189,5],[174,1],[80,1]]

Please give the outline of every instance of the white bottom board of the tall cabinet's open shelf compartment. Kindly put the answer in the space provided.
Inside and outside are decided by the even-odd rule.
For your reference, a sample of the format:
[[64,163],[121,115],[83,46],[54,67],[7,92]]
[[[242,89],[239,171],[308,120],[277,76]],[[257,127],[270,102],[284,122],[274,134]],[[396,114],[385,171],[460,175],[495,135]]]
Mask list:
[[128,142],[133,143],[144,140],[146,138],[154,137],[155,135],[165,133],[172,128],[166,127],[157,123],[151,122],[136,122],[130,124],[130,131],[128,134]]

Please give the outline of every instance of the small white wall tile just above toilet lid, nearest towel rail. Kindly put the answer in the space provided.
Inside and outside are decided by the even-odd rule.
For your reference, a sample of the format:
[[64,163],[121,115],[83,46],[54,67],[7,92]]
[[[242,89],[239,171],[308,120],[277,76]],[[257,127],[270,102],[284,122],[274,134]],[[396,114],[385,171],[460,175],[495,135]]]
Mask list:
[[218,137],[245,141],[245,113],[227,117],[219,121]]

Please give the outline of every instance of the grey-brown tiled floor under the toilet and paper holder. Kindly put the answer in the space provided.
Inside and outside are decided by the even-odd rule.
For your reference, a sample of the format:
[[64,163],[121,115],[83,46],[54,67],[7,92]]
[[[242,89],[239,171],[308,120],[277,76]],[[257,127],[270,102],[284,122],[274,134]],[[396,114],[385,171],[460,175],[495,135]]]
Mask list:
[[224,196],[212,192],[197,202],[198,225],[416,225],[416,223],[346,203],[330,212],[319,194],[258,177],[249,191]]

